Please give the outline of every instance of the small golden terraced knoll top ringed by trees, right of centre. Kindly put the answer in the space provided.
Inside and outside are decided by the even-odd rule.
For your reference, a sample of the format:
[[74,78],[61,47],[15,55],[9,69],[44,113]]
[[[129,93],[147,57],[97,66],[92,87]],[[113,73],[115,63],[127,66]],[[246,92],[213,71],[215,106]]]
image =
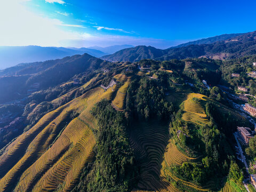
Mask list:
[[184,101],[184,111],[182,118],[184,121],[203,125],[209,122],[204,110],[204,101],[209,100],[205,95],[199,93],[189,93]]

